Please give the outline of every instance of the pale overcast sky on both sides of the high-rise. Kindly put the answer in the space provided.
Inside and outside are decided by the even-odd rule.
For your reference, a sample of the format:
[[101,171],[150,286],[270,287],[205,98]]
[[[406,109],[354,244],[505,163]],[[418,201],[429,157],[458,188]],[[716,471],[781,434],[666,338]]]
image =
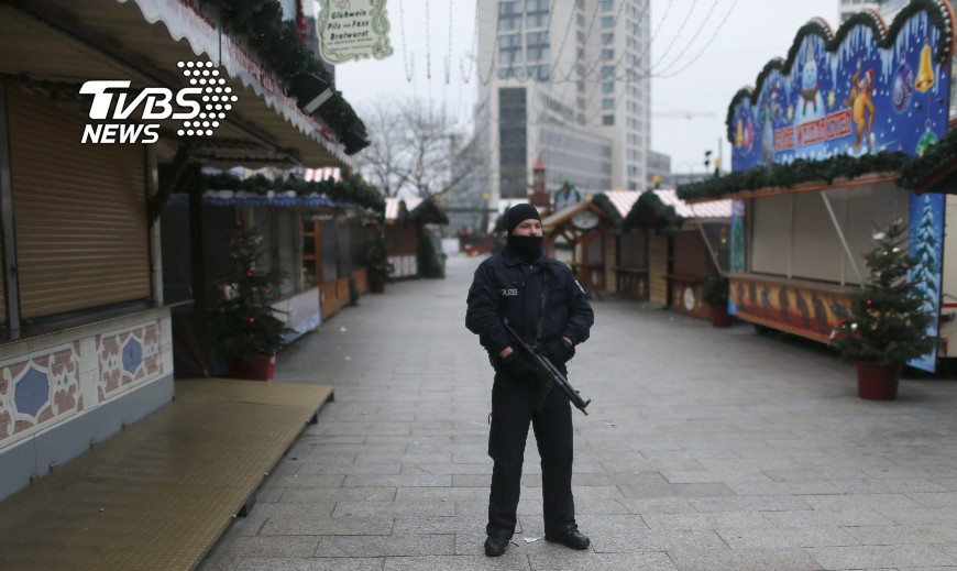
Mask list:
[[[376,99],[408,97],[470,117],[475,6],[388,0],[393,56],[340,64],[337,88],[360,111]],[[754,85],[770,59],[785,57],[812,18],[836,30],[837,7],[838,0],[651,0],[652,34],[658,30],[651,62],[667,70],[651,80],[651,147],[671,155],[675,173],[703,172],[705,150],[717,154],[721,139],[730,167],[724,121],[732,97]]]

